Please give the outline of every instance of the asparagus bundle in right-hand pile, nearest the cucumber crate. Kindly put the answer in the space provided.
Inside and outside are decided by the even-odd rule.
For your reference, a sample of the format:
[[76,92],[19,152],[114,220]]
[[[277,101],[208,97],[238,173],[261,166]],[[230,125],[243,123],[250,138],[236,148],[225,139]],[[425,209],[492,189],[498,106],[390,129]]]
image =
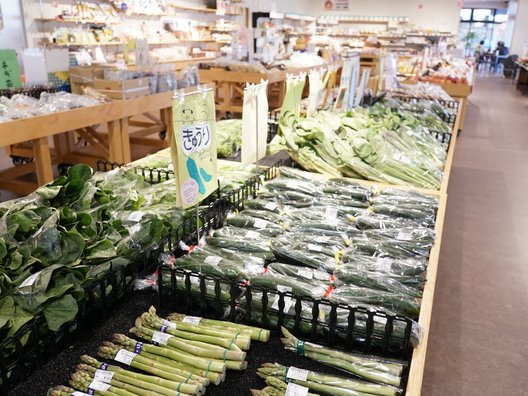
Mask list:
[[284,327],[282,327],[282,334],[285,338],[281,338],[281,341],[284,348],[289,351],[297,352],[319,363],[337,367],[361,378],[381,384],[400,386],[403,365],[399,363],[380,362],[332,348],[305,343],[294,337]]

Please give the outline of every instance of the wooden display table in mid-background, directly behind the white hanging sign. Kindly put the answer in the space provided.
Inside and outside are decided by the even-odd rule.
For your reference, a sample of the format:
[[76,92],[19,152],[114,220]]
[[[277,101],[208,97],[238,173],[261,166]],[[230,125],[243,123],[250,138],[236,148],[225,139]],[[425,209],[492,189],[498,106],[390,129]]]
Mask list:
[[246,83],[258,84],[268,80],[268,101],[270,108],[282,105],[285,93],[286,72],[278,69],[266,72],[228,71],[220,68],[200,69],[201,83],[216,84],[216,110],[219,112],[242,113],[244,87]]

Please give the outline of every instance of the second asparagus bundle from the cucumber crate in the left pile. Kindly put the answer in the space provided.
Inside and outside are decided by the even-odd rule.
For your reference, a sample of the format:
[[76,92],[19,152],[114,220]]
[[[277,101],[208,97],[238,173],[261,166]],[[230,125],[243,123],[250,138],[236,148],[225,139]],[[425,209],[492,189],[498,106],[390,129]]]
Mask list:
[[236,345],[240,349],[246,351],[251,345],[251,338],[247,334],[241,334],[241,332],[233,332],[229,330],[213,328],[211,326],[200,326],[185,322],[180,322],[177,324],[174,322],[167,323],[166,320],[163,320],[156,315],[156,309],[154,307],[150,307],[148,313],[145,312],[143,315],[141,315],[141,319],[148,327],[156,330],[164,329],[167,333],[176,337],[186,338],[194,341],[203,341],[228,349],[233,345]]

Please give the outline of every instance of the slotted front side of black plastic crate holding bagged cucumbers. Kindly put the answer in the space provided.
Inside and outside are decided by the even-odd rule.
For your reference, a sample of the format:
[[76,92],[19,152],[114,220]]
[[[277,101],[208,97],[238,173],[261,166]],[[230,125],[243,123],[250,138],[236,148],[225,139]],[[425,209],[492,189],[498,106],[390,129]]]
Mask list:
[[[158,267],[158,293],[161,306],[186,314],[242,322],[277,333],[285,326],[312,342],[382,357],[409,360],[412,355],[413,322],[403,316],[167,266]],[[294,313],[285,312],[287,304]]]

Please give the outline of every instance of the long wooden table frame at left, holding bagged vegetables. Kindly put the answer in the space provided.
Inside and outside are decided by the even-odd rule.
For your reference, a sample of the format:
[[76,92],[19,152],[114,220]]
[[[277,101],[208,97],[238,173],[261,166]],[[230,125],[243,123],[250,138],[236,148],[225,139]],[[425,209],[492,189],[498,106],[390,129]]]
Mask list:
[[[171,96],[171,92],[164,92],[0,123],[0,147],[7,147],[11,155],[34,158],[33,163],[0,172],[0,188],[28,194],[53,180],[53,165],[58,163],[84,161],[94,165],[98,159],[130,162],[130,142],[145,143],[144,136],[166,130],[171,117]],[[159,120],[150,114],[153,112],[161,113]],[[148,114],[153,122],[131,120],[142,114]],[[99,125],[106,127],[107,135],[97,131]],[[129,126],[142,129],[130,132]],[[96,154],[75,152],[73,132],[81,136]],[[49,137],[54,140],[53,150]],[[25,142],[31,143],[29,149],[11,148]],[[166,147],[167,142],[160,142],[160,146]],[[37,183],[17,180],[32,172],[37,174]]]

